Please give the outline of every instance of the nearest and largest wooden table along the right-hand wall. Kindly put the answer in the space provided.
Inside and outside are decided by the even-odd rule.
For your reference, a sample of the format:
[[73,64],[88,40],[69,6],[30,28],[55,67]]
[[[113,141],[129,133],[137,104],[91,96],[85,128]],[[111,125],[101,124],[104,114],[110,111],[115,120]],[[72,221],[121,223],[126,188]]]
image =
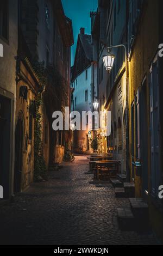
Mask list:
[[108,174],[109,178],[112,173],[115,175],[120,173],[121,161],[108,160],[108,161],[96,161],[96,171],[94,173],[94,178],[99,180],[99,176],[102,174]]

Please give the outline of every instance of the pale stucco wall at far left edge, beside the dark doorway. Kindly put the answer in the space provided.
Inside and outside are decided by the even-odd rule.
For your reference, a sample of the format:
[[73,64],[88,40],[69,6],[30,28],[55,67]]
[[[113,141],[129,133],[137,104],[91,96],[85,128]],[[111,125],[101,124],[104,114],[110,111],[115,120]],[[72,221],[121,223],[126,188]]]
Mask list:
[[3,45],[3,56],[0,58],[0,87],[13,94],[13,113],[11,124],[11,155],[9,161],[11,161],[11,188],[10,194],[13,192],[13,180],[14,180],[14,138],[15,138],[15,109],[16,109],[16,82],[15,82],[15,68],[17,56],[17,0],[9,0],[9,40],[6,41],[0,37],[0,44]]

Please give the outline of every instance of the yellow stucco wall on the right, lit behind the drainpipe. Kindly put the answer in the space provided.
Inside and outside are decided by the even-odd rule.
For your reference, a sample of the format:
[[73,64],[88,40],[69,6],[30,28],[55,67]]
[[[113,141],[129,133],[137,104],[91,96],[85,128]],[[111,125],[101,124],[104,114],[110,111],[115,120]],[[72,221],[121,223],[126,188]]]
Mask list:
[[[150,19],[149,19],[150,17]],[[147,102],[146,107],[148,109],[147,115],[147,134],[148,134],[148,176],[150,176],[150,133],[149,133],[149,67],[152,60],[158,50],[159,45],[159,28],[158,28],[158,4],[153,4],[153,1],[148,1],[147,8],[141,19],[141,26],[139,33],[136,36],[133,55],[129,62],[129,120],[131,120],[131,103],[134,101],[137,89],[141,87],[141,83],[145,76],[147,76]],[[131,142],[131,123],[130,123],[130,142]],[[130,143],[131,144],[131,143]],[[136,150],[136,148],[135,148]],[[131,148],[130,148],[130,168],[131,168]],[[138,176],[135,176],[135,191],[136,196],[141,196],[142,180]]]

